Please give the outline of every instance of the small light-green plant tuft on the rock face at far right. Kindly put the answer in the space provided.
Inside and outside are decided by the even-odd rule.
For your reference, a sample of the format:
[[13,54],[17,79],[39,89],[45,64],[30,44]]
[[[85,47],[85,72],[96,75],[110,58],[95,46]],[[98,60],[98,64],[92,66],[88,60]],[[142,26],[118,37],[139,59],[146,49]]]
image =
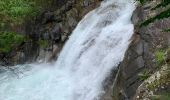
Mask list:
[[165,51],[164,50],[156,51],[155,58],[156,58],[157,65],[160,66],[164,64],[165,63]]

